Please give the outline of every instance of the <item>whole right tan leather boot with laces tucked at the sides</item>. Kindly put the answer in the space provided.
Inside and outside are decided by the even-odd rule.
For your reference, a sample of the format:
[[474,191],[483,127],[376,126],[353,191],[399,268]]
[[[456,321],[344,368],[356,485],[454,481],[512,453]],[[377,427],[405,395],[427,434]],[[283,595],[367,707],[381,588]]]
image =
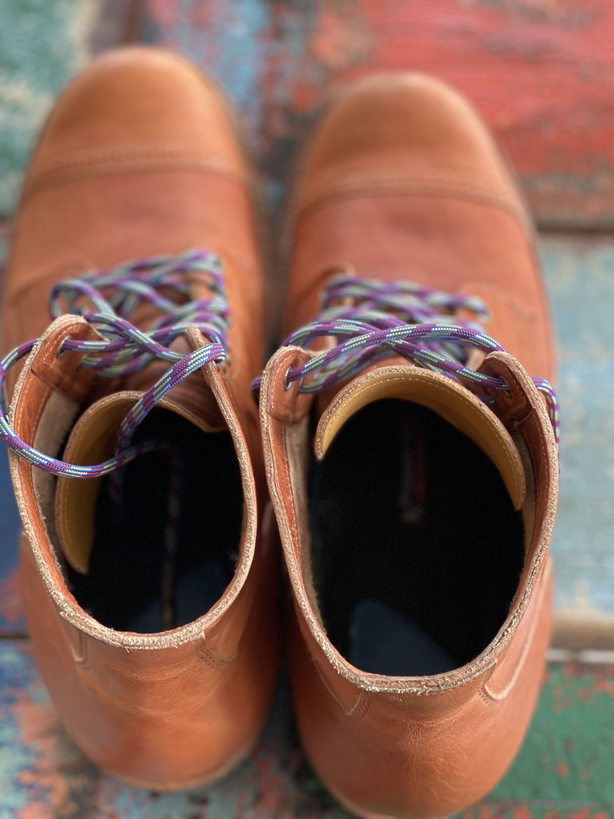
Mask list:
[[260,416],[300,734],[351,811],[440,817],[512,761],[549,641],[557,412],[527,375],[553,369],[528,220],[467,104],[391,75],[324,118],[290,223],[297,332]]

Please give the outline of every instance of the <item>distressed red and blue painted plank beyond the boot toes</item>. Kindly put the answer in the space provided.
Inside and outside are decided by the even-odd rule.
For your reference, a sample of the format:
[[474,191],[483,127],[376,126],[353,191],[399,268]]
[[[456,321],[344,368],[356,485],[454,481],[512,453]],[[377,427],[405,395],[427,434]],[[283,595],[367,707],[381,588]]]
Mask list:
[[229,88],[279,186],[326,94],[420,70],[472,99],[542,225],[614,224],[614,5],[603,0],[146,0],[143,34]]

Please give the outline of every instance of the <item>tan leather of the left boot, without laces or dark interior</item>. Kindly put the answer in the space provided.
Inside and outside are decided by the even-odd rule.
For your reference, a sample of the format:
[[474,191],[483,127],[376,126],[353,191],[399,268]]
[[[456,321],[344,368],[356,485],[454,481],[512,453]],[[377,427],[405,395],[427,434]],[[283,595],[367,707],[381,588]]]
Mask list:
[[[44,333],[22,369],[11,411],[30,443],[57,444],[104,394],[87,370],[77,369],[78,354],[56,355],[67,335],[91,331],[74,317],[47,329],[53,283],[192,247],[217,252],[225,264],[232,365],[225,373],[213,364],[195,373],[181,397],[184,414],[228,426],[242,477],[237,571],[213,609],[153,635],[95,621],[66,587],[52,543],[43,498],[53,482],[50,490],[46,475],[11,455],[25,528],[22,584],[47,687],[70,735],[95,762],[157,789],[206,781],[232,767],[264,722],[277,673],[275,550],[267,542],[271,527],[263,527],[266,486],[250,395],[264,349],[252,185],[232,116],[209,80],[164,52],[111,52],[70,84],[47,120],[11,245],[3,347]],[[193,287],[197,295],[198,282]],[[184,343],[189,350],[204,342],[194,330]],[[156,374],[152,369],[123,387],[138,391]],[[206,492],[214,473],[215,464],[202,464],[192,480]]]

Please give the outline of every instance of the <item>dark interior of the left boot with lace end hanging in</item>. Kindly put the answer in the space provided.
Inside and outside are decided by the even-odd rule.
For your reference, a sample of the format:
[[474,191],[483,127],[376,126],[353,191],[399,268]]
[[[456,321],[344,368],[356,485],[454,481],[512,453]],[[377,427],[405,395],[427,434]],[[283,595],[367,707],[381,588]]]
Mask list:
[[157,408],[138,441],[163,448],[104,479],[89,572],[67,573],[98,622],[147,633],[192,622],[223,595],[237,564],[243,491],[229,432],[201,432]]

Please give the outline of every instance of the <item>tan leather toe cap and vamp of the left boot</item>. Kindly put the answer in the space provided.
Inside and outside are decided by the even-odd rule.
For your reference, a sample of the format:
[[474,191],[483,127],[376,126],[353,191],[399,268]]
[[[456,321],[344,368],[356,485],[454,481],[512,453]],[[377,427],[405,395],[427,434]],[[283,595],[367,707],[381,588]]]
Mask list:
[[4,348],[47,327],[59,278],[205,244],[226,265],[235,328],[253,331],[230,336],[249,382],[264,352],[254,188],[228,104],[194,66],[147,48],[94,62],[59,98],[26,174]]

